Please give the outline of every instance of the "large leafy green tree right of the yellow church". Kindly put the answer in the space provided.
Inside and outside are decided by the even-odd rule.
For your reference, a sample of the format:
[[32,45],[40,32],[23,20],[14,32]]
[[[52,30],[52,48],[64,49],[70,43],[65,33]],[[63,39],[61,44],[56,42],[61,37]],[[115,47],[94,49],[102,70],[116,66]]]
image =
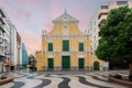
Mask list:
[[100,26],[96,55],[102,61],[129,61],[132,63],[132,9],[112,9]]

